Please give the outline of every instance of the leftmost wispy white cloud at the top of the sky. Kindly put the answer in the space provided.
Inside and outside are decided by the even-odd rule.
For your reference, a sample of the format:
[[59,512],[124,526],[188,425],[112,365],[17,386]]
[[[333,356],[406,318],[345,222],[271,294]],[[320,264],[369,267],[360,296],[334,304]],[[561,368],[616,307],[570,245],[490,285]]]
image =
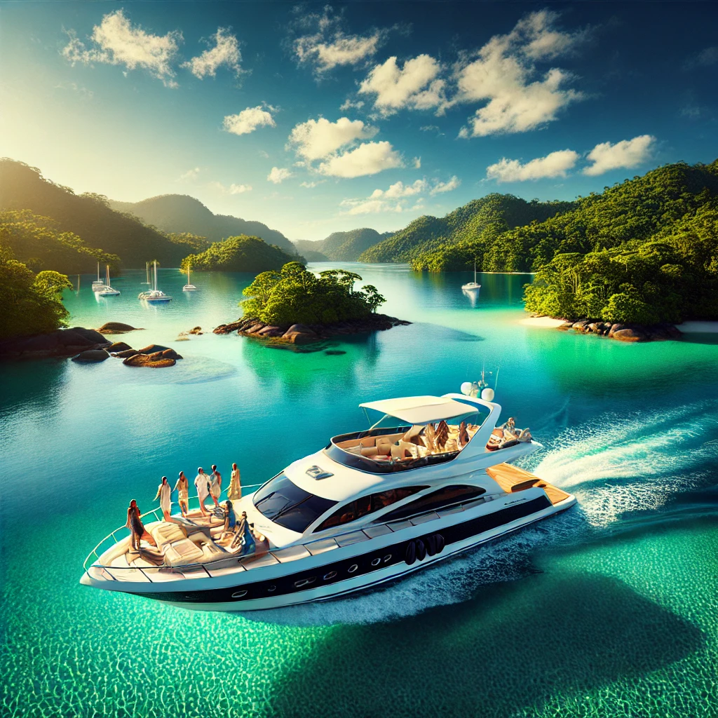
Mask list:
[[102,22],[95,25],[90,41],[88,49],[74,32],[70,32],[70,42],[62,49],[63,57],[73,65],[75,62],[85,65],[105,62],[124,65],[127,70],[141,67],[167,87],[177,87],[171,64],[182,42],[182,33],[178,30],[153,35],[139,26],[132,27],[120,9],[106,14]]

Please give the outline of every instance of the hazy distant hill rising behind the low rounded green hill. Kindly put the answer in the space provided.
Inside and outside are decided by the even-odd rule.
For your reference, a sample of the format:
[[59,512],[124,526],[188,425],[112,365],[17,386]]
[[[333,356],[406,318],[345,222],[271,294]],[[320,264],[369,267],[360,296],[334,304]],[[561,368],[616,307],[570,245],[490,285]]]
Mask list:
[[116,202],[110,200],[111,208],[129,212],[144,223],[154,225],[163,232],[190,232],[218,242],[238,235],[256,236],[267,244],[276,244],[290,254],[296,249],[281,232],[253,220],[243,220],[231,215],[215,215],[200,200],[189,195],[160,195],[141,202]]

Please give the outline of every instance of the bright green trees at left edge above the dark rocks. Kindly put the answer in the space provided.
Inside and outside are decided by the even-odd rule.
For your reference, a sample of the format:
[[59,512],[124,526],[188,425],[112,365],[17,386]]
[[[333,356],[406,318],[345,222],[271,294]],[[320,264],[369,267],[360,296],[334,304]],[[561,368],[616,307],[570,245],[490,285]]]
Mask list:
[[51,332],[65,326],[69,315],[62,304],[62,289],[72,285],[64,274],[34,274],[17,261],[9,248],[0,246],[0,337]]

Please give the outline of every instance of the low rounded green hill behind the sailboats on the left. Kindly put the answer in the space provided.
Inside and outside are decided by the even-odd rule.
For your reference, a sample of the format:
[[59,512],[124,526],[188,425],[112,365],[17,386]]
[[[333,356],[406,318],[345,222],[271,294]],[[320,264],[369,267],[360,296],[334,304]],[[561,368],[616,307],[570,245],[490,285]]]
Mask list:
[[215,242],[201,253],[186,256],[180,269],[247,271],[256,274],[269,269],[281,269],[284,264],[296,258],[297,255],[287,254],[258,237],[241,235]]

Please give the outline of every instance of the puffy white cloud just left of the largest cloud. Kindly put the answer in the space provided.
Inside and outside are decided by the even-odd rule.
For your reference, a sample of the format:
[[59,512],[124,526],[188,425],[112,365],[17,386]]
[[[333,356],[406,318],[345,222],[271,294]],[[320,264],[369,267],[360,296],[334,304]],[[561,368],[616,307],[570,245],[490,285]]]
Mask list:
[[430,55],[419,55],[399,68],[396,57],[373,67],[359,86],[359,93],[376,95],[374,108],[391,115],[402,108],[427,110],[441,108],[446,102],[444,80],[438,78],[441,65]]

